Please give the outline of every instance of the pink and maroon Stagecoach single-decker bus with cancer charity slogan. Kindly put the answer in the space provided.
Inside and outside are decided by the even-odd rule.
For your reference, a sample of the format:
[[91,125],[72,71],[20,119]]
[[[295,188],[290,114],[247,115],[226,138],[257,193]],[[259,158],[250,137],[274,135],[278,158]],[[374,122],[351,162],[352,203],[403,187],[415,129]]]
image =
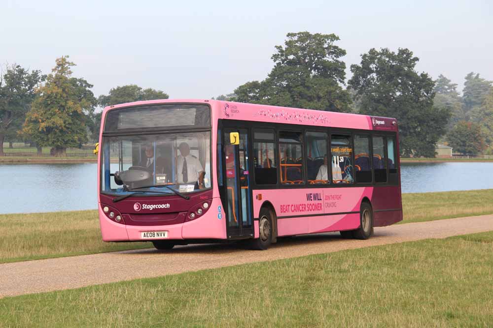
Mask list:
[[267,249],[282,236],[368,239],[402,220],[398,145],[391,118],[218,100],[106,107],[103,240]]

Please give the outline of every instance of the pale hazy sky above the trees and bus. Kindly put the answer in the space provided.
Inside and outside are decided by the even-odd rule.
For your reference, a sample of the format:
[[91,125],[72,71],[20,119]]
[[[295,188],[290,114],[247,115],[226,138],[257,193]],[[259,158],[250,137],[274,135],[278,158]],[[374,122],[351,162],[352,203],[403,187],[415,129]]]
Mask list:
[[[402,3],[401,3],[402,2]],[[137,84],[211,98],[270,72],[288,32],[335,33],[349,66],[370,48],[409,48],[417,69],[493,80],[493,2],[0,0],[0,63],[50,72],[70,55],[96,95]]]

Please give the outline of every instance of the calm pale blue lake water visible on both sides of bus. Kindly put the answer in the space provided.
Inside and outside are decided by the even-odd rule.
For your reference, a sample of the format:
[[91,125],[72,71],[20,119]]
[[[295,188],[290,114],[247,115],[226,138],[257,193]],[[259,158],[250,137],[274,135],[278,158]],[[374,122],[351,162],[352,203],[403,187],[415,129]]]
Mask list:
[[[410,163],[402,192],[493,188],[493,163]],[[0,165],[0,213],[96,209],[96,164]]]

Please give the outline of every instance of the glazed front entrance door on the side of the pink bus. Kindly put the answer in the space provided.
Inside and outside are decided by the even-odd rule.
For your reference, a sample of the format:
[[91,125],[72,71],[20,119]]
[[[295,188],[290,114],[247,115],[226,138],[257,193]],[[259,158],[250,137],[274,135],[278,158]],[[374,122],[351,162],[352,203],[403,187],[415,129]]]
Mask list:
[[226,196],[226,227],[228,239],[253,236],[251,215],[251,189],[248,168],[247,130],[225,129],[224,140],[230,140],[230,132],[239,132],[240,144],[224,143],[224,177]]

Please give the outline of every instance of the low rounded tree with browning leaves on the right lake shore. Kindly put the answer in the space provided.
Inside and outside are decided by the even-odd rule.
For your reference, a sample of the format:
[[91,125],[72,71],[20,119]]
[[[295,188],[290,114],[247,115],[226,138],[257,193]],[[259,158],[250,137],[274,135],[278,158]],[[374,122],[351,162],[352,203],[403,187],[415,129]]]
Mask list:
[[486,149],[481,126],[473,122],[459,121],[447,134],[447,140],[454,150],[463,154],[475,156]]

